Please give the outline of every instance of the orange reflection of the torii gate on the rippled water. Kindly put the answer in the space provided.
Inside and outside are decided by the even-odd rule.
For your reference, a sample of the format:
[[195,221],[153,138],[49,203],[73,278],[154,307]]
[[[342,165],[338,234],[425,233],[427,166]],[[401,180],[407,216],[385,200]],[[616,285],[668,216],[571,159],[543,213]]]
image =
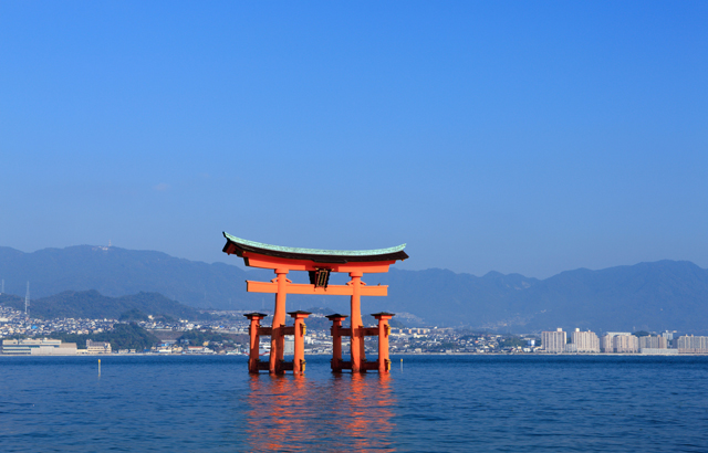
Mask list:
[[248,398],[233,402],[246,409],[242,442],[250,452],[393,452],[391,380],[391,373],[337,373],[327,380],[251,376]]

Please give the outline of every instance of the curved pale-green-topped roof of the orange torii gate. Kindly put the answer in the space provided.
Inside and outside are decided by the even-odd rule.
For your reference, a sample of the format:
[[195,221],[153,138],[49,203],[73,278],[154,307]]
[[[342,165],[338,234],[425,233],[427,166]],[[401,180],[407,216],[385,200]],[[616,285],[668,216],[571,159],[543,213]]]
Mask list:
[[287,247],[280,245],[263,244],[248,241],[223,232],[226,245],[223,252],[243,256],[243,252],[258,253],[268,256],[277,256],[288,260],[308,260],[320,263],[348,263],[406,260],[408,254],[404,252],[406,244],[377,250],[322,250]]

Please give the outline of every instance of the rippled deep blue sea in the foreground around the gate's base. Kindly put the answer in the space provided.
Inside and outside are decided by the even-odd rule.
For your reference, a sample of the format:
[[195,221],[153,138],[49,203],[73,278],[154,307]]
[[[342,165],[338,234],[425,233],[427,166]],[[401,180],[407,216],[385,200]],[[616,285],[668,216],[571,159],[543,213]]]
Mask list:
[[[400,359],[403,358],[403,370]],[[708,452],[707,357],[0,358],[1,452]]]

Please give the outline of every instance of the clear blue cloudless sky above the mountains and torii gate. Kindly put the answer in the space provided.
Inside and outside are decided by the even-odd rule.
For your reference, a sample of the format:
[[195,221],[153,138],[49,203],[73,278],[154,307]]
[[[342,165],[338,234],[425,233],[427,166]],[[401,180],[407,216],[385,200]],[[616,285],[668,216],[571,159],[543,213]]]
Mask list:
[[0,245],[708,267],[708,2],[0,2]]

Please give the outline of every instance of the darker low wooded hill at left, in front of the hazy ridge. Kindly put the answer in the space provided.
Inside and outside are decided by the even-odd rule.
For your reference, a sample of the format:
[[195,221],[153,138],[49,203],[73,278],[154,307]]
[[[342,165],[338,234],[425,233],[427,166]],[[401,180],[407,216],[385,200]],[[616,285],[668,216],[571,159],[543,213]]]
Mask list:
[[[0,304],[23,310],[24,298],[3,294]],[[128,296],[108,297],[95,289],[65,291],[63,293],[30,302],[30,315],[39,319],[52,318],[110,318],[139,319],[147,315],[174,319],[196,319],[199,312],[157,293],[138,293]]]

